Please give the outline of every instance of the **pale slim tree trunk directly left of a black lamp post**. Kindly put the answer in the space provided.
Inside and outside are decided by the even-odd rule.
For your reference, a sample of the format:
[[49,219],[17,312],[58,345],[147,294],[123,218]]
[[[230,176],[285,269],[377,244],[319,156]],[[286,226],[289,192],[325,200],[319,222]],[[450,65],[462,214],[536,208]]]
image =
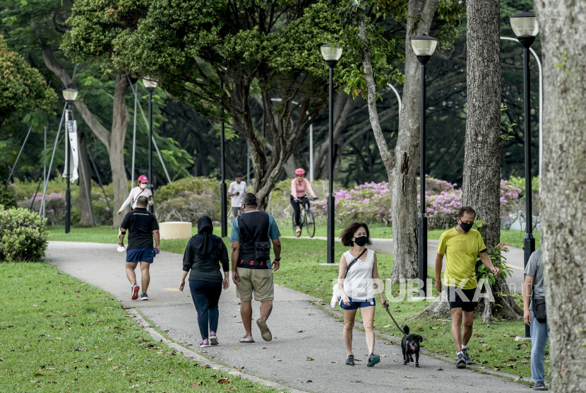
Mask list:
[[[389,176],[395,247],[395,264],[390,276],[393,283],[399,282],[401,278],[417,276],[417,168],[421,124],[421,69],[411,47],[411,38],[429,33],[438,3],[439,0],[409,0],[407,5],[407,14],[412,17],[407,19],[405,35],[403,105],[399,115],[395,164]],[[379,139],[382,136],[375,133],[375,137],[380,150]],[[425,175],[425,168],[421,168],[421,175]]]

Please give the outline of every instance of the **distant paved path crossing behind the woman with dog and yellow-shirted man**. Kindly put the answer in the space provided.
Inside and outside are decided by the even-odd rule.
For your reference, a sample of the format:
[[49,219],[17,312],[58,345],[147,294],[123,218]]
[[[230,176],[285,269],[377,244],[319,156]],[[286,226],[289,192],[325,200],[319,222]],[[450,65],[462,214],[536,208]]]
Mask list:
[[[284,236],[287,239],[297,239],[294,236]],[[309,237],[299,237],[299,239],[309,240]],[[312,237],[311,240],[328,240],[325,236],[316,236]],[[339,238],[336,238],[337,242],[340,242]],[[383,239],[383,238],[373,238],[371,239],[372,245],[369,248],[372,248],[376,252],[381,254],[395,254],[395,250],[393,248],[393,239]],[[427,240],[427,266],[431,267],[431,269],[435,268],[436,265],[436,254],[438,252],[438,242],[439,240]],[[518,247],[507,246],[509,252],[505,254],[505,257],[508,262],[508,266],[510,266],[513,270],[513,276],[507,278],[507,283],[509,286],[510,291],[521,293],[521,288],[523,285],[523,281],[525,281],[525,275],[523,274],[523,250]],[[446,269],[446,257],[443,258],[443,266],[441,271]]]

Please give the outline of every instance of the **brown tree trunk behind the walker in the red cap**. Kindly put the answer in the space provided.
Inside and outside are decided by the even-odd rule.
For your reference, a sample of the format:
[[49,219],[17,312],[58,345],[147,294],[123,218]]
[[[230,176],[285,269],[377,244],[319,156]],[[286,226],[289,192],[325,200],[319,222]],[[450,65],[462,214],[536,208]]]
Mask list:
[[[116,75],[116,87],[114,88],[114,112],[112,113],[112,135],[108,149],[110,168],[112,168],[112,187],[114,188],[114,209],[112,209],[112,226],[118,228],[124,216],[117,215],[118,206],[122,206],[128,197],[128,178],[124,168],[124,141],[130,116],[126,109],[126,90],[128,78],[124,71],[118,71]],[[149,179],[153,182],[153,179]]]

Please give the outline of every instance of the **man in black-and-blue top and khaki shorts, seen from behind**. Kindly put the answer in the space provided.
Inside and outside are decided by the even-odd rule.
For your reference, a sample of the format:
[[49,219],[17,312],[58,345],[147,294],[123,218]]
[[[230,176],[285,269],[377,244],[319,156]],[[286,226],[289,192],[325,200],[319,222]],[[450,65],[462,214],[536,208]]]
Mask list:
[[[273,335],[267,326],[267,319],[273,310],[275,286],[273,271],[281,261],[281,233],[275,218],[264,211],[258,211],[256,195],[247,193],[242,199],[244,213],[232,221],[232,280],[240,298],[240,316],[246,334],[241,343],[253,343],[252,337],[252,295],[261,302],[261,317],[256,319],[263,340],[270,341]],[[269,241],[270,240],[270,241]],[[273,243],[275,258],[270,261],[270,243]]]

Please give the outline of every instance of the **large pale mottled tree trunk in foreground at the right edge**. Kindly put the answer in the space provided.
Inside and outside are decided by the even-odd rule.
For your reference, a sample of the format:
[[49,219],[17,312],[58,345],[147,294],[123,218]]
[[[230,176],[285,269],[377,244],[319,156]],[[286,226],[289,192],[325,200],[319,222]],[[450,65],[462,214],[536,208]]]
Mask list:
[[551,392],[586,392],[586,2],[535,2],[544,59],[542,248]]

